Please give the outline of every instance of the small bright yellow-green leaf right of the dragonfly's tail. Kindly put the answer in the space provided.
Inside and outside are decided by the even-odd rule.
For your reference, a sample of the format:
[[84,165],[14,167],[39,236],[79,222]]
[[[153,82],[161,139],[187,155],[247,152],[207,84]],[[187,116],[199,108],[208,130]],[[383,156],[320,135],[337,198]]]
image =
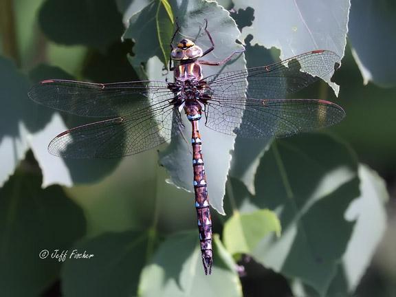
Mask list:
[[230,254],[252,254],[271,232],[281,235],[281,222],[271,210],[256,210],[250,214],[236,212],[225,222],[224,245]]

